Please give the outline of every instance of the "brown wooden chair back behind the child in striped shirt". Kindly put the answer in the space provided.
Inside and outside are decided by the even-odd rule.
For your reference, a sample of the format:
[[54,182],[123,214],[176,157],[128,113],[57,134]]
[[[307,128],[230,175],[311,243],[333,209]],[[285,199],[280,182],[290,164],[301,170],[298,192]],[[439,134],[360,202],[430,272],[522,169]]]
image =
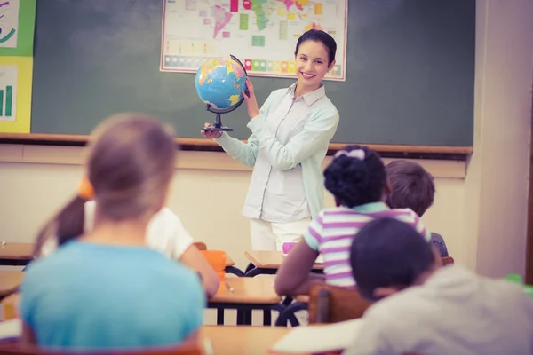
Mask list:
[[357,290],[316,284],[309,295],[309,323],[337,323],[362,317],[370,306]]

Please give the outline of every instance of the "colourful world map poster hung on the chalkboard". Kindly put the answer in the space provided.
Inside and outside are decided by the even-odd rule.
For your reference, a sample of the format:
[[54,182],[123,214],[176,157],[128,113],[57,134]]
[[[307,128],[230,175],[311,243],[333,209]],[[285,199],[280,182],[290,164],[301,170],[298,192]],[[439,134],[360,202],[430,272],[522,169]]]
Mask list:
[[234,55],[249,75],[294,77],[298,37],[322,29],[337,42],[326,80],[346,80],[347,0],[164,0],[161,71],[195,73]]

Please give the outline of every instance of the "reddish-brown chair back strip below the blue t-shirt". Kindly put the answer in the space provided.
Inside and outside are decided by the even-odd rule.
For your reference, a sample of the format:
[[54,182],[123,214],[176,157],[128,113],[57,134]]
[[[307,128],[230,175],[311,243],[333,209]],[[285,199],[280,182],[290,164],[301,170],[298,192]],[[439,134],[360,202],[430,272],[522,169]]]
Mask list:
[[33,345],[4,343],[0,344],[0,353],[4,355],[204,355],[203,349],[195,343],[136,351],[46,351]]

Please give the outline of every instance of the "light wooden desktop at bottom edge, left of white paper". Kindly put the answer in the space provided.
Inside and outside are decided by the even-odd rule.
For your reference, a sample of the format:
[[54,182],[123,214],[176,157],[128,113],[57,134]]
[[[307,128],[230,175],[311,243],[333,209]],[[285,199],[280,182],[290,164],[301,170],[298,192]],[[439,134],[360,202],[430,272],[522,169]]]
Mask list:
[[203,326],[200,339],[209,339],[215,355],[267,355],[289,332],[287,327]]

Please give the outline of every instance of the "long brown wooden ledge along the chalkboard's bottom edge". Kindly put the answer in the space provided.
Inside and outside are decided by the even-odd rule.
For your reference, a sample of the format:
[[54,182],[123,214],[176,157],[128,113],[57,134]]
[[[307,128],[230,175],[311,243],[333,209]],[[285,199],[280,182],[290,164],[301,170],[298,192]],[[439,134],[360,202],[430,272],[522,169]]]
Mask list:
[[[0,133],[0,144],[39,146],[85,146],[89,136],[46,133]],[[222,148],[211,139],[176,138],[182,150],[220,152]],[[330,143],[328,155],[352,143]],[[364,144],[384,158],[434,159],[465,161],[473,153],[472,146],[402,146]]]

